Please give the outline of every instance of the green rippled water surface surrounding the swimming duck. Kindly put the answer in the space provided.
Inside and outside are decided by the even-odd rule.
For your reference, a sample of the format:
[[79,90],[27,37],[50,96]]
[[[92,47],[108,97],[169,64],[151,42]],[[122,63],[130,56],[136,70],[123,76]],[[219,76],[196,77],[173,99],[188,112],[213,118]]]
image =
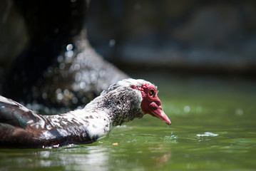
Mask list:
[[91,145],[0,149],[0,170],[256,170],[255,81],[134,77],[157,84],[170,128],[148,115]]

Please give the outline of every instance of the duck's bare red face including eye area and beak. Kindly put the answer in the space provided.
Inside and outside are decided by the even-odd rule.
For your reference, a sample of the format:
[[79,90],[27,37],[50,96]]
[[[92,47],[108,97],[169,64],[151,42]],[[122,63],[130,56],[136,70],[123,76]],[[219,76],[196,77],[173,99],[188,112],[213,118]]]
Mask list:
[[140,90],[143,98],[140,106],[144,114],[148,113],[153,117],[159,118],[160,120],[170,125],[170,119],[163,112],[163,108],[161,107],[161,101],[158,98],[155,86],[150,83],[145,83],[140,87],[131,86],[131,88]]

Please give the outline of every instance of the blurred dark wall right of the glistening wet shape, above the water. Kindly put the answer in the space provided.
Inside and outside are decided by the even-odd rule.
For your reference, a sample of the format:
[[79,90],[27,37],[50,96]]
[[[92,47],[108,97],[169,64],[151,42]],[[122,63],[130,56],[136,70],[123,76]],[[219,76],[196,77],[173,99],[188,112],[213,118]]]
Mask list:
[[88,38],[121,68],[256,70],[256,1],[91,1]]

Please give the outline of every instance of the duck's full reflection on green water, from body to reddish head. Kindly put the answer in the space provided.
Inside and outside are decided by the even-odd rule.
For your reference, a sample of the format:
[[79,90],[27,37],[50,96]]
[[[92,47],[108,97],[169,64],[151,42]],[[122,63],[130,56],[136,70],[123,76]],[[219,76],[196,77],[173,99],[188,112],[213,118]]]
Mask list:
[[[101,145],[96,146],[74,146],[62,147],[52,150],[0,150],[1,168],[4,170],[30,170],[32,168],[62,168],[63,170],[116,170],[126,166],[124,170],[129,170],[136,166],[138,170],[145,170],[150,166],[163,167],[171,157],[171,152],[164,151],[163,145],[147,147],[135,152],[135,156],[127,147],[116,147],[111,149]],[[111,147],[112,148],[112,147]],[[146,155],[147,152],[153,155]],[[5,153],[5,154],[4,154]],[[9,154],[12,155],[9,155]],[[4,157],[5,155],[5,157]],[[148,163],[144,165],[143,162]]]

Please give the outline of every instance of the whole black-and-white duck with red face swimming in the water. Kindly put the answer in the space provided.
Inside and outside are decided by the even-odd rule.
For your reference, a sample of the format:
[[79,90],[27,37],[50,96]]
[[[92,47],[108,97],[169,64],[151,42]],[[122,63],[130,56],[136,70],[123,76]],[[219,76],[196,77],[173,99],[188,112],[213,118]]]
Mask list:
[[168,125],[158,88],[143,79],[126,78],[101,92],[84,108],[40,115],[0,95],[0,147],[45,148],[79,145],[104,138],[116,126],[150,114]]

